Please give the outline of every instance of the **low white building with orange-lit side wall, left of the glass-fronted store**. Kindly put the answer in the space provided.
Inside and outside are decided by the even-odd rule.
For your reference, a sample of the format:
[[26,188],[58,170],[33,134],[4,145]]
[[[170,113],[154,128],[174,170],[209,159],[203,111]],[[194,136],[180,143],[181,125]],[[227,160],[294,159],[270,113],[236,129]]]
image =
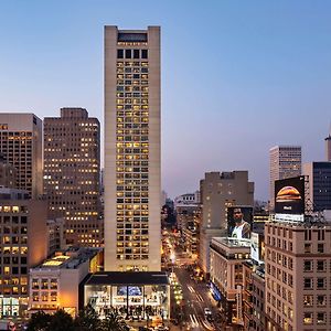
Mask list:
[[102,248],[71,247],[31,268],[29,313],[52,313],[62,308],[75,316],[78,312],[79,284],[88,273],[99,270],[102,252]]

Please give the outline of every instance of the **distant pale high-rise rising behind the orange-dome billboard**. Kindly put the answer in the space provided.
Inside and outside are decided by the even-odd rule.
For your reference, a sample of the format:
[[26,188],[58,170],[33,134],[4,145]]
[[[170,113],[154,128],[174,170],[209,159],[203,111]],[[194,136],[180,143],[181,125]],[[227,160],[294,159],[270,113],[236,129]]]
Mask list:
[[275,181],[301,174],[301,146],[275,146],[270,156],[270,207],[274,209]]

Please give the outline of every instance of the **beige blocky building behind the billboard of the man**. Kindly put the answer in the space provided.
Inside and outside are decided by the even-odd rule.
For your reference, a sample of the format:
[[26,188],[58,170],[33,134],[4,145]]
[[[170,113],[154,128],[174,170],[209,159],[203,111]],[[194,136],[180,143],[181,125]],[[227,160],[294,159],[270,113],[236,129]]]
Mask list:
[[202,222],[200,226],[200,265],[210,273],[212,237],[227,235],[226,209],[233,205],[254,205],[254,182],[248,171],[206,172],[200,182]]

